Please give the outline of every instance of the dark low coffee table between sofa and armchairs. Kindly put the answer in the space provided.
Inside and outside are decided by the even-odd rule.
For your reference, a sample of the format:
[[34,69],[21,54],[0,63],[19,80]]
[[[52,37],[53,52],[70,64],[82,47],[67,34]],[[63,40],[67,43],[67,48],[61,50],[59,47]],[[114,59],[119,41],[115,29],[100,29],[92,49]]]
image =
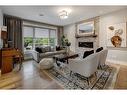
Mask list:
[[57,66],[60,66],[59,62],[62,62],[62,63],[66,62],[68,64],[69,63],[68,59],[76,58],[78,56],[79,55],[76,53],[65,53],[65,54],[54,55],[53,58],[56,60]]

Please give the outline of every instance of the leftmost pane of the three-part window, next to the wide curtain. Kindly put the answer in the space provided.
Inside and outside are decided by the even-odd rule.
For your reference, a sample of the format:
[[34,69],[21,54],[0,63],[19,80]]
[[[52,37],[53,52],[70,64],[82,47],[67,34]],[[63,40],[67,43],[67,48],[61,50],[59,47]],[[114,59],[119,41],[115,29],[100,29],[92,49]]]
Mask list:
[[24,35],[24,49],[31,50],[33,49],[33,28],[23,27]]

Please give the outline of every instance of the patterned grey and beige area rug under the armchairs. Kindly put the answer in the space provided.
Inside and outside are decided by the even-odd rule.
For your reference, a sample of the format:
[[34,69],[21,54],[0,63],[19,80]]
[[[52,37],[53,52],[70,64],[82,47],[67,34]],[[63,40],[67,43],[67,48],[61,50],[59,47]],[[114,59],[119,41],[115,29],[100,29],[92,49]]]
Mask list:
[[103,69],[98,69],[96,75],[90,77],[88,85],[84,76],[74,72],[70,76],[70,70],[67,66],[62,68],[54,66],[44,72],[64,89],[113,89],[110,86],[113,78],[117,75],[115,67],[105,66]]

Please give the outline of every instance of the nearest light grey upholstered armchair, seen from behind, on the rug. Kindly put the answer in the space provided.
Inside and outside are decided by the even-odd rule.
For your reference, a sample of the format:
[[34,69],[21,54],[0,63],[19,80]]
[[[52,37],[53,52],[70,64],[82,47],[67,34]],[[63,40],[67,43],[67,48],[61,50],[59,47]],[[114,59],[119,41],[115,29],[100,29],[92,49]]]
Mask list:
[[69,59],[68,68],[71,72],[86,77],[89,85],[89,77],[97,71],[100,53],[94,53],[84,59]]

